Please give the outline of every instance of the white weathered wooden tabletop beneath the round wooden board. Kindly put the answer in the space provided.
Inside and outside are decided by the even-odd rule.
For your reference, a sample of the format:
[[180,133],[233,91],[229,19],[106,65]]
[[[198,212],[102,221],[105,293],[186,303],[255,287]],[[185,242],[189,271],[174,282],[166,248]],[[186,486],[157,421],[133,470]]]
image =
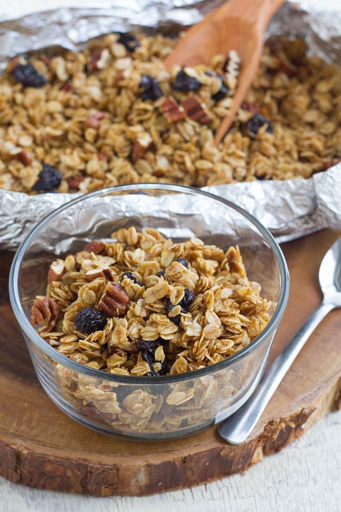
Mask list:
[[[321,0],[309,3],[321,5]],[[4,1],[0,19],[61,6],[96,5],[96,0]],[[339,0],[323,0],[323,5],[340,9]],[[93,498],[28,488],[0,477],[0,512],[163,512],[166,507],[171,512],[340,512],[341,411],[330,413],[245,475],[171,493]]]

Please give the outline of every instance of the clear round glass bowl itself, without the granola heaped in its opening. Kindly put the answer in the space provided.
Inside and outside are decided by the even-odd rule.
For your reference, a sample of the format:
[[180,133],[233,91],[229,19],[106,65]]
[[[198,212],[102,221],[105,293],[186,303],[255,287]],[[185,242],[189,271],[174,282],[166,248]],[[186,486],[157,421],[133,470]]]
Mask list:
[[[268,325],[223,361],[163,377],[109,374],[57,352],[29,321],[35,296],[45,294],[50,262],[130,226],[155,228],[177,242],[195,236],[224,250],[238,244],[248,279],[259,282],[262,296],[276,306]],[[274,238],[242,208],[195,188],[151,183],[102,189],[53,211],[20,245],[9,288],[37,376],[57,406],[99,432],[153,440],[206,429],[251,395],[287,304],[289,275]]]

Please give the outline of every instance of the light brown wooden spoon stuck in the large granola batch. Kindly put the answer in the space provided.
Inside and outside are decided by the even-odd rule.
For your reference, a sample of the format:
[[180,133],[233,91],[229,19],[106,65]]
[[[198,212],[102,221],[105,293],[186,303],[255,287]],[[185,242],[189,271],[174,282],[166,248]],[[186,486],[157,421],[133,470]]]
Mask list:
[[174,50],[166,57],[165,66],[211,64],[217,54],[236,50],[241,68],[233,104],[215,134],[218,144],[233,121],[246,91],[257,71],[267,24],[284,0],[229,0],[191,27]]

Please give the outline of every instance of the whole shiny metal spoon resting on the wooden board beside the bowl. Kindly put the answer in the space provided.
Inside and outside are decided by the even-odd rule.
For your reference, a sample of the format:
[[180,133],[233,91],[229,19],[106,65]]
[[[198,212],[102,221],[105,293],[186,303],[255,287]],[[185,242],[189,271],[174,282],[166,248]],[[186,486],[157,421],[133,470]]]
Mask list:
[[309,336],[329,311],[341,307],[341,237],[325,254],[320,266],[319,281],[323,292],[320,306],[272,362],[253,395],[238,411],[220,423],[218,432],[226,441],[232,444],[245,441]]

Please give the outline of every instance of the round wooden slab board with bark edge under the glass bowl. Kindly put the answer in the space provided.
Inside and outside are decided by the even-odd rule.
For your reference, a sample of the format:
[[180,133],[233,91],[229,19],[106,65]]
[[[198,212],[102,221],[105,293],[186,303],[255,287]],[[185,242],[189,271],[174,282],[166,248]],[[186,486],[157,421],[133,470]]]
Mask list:
[[[270,361],[321,301],[320,262],[340,234],[325,230],[283,245],[291,290]],[[62,413],[35,376],[9,304],[12,257],[0,252],[0,475],[13,482],[96,496],[189,487],[246,470],[341,406],[341,312],[336,310],[312,334],[243,444],[222,441],[216,427],[152,443],[93,432]]]

